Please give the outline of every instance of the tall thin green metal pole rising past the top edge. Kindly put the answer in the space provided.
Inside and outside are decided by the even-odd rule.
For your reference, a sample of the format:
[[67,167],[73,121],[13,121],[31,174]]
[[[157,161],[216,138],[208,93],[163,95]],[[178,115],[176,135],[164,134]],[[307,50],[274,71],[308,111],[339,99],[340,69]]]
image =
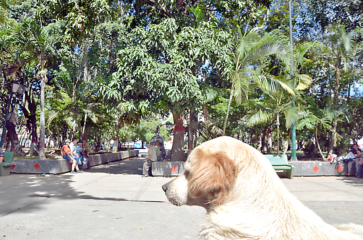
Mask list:
[[[290,46],[291,46],[291,78],[294,77],[294,48],[293,48],[293,28],[291,23],[291,0],[289,0],[289,28],[290,28]],[[295,80],[293,90],[295,89]],[[295,90],[294,90],[295,91]],[[295,109],[295,97],[293,96],[293,108]],[[291,159],[290,161],[298,161],[296,157],[296,128],[295,120],[291,128]]]

